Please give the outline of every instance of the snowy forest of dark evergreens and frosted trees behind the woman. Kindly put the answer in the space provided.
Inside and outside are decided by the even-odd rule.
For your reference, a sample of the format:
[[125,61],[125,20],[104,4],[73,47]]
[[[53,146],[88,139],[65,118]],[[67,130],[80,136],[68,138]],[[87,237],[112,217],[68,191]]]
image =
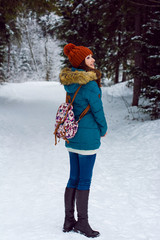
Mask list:
[[0,0],[0,29],[1,84],[57,81],[56,55],[71,42],[91,48],[103,79],[133,87],[132,106],[160,118],[159,0]]

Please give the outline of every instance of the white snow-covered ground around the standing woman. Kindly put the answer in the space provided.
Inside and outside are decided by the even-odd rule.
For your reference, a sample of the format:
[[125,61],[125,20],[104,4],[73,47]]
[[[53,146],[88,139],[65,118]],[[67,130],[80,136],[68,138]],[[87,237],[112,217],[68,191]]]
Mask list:
[[[133,121],[125,84],[103,88],[108,135],[94,168],[89,220],[99,240],[160,238],[160,120]],[[63,233],[68,153],[54,146],[59,83],[0,86],[0,239],[80,240]]]

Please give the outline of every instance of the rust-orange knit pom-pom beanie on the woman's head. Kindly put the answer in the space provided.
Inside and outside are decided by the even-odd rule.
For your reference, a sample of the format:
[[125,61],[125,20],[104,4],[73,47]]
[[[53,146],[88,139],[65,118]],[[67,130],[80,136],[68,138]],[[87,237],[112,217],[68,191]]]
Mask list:
[[93,52],[87,47],[69,43],[64,46],[64,54],[68,57],[72,66],[77,68],[88,55],[93,55]]

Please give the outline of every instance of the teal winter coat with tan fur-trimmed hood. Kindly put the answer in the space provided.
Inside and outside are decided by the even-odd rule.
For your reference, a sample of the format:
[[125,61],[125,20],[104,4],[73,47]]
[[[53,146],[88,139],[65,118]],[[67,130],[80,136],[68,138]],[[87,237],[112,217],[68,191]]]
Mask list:
[[76,120],[88,104],[90,105],[90,110],[79,122],[75,137],[69,139],[69,143],[66,142],[66,147],[78,150],[98,149],[101,136],[107,132],[101,89],[95,81],[96,78],[94,72],[75,71],[69,68],[64,68],[60,73],[60,81],[71,98],[79,85],[82,85],[73,103]]

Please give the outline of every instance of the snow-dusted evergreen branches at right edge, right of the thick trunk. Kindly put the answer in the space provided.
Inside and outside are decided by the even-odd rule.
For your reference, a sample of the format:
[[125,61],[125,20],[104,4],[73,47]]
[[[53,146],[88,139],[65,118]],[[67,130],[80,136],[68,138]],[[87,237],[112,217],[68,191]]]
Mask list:
[[152,119],[160,117],[160,9],[148,10],[143,25],[143,81],[142,96],[148,104],[142,106]]

